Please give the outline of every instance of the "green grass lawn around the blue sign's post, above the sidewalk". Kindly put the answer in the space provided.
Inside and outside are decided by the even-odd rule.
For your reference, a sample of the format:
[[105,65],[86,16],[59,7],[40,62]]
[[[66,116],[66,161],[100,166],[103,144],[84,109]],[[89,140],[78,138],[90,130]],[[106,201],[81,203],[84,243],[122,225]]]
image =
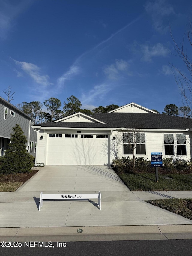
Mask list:
[[[163,176],[172,179],[164,179]],[[192,190],[192,174],[159,174],[159,182],[155,181],[154,173],[123,173],[119,177],[130,190],[158,191],[158,190]]]

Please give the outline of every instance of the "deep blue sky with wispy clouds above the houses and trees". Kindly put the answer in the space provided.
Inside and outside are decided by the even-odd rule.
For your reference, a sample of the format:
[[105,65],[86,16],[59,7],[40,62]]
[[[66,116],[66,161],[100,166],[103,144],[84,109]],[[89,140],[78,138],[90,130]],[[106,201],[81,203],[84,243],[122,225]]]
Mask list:
[[180,44],[190,10],[187,0],[0,0],[0,96],[10,86],[14,105],[74,95],[90,110],[181,107],[170,26]]

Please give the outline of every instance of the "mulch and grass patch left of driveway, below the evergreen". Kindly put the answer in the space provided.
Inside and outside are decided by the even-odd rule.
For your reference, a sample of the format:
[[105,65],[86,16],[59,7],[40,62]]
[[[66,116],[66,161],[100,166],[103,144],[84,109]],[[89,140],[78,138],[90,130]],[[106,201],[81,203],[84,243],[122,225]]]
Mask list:
[[0,192],[14,192],[37,172],[32,170],[31,173],[0,174]]

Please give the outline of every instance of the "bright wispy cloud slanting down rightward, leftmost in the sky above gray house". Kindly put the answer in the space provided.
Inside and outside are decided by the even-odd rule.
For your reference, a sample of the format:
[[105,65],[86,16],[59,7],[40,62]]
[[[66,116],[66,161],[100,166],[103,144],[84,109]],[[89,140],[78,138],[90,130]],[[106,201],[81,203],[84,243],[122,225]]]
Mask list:
[[13,59],[15,64],[26,74],[28,74],[35,83],[41,84],[43,86],[52,85],[53,83],[50,83],[49,76],[48,75],[41,75],[41,68],[39,68],[37,65],[33,63],[28,63],[24,61],[17,61]]

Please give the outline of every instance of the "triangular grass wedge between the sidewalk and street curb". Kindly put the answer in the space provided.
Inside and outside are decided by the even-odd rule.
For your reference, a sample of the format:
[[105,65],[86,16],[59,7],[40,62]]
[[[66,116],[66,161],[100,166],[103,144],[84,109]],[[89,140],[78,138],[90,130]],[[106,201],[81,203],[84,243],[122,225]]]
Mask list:
[[191,198],[156,199],[146,202],[192,220]]

